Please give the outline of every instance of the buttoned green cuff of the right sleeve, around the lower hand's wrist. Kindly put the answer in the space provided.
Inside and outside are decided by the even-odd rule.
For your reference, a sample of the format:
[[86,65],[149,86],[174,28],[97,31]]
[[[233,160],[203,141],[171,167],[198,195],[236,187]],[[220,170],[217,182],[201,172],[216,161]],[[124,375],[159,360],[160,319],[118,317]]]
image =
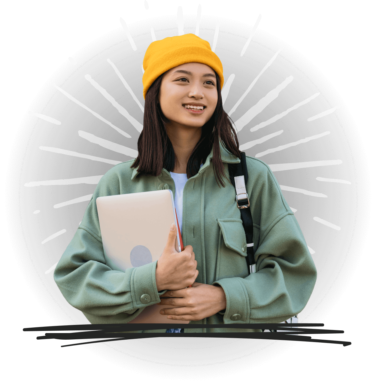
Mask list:
[[221,286],[226,295],[226,310],[218,312],[223,323],[249,323],[249,298],[241,278],[224,278],[212,285]]

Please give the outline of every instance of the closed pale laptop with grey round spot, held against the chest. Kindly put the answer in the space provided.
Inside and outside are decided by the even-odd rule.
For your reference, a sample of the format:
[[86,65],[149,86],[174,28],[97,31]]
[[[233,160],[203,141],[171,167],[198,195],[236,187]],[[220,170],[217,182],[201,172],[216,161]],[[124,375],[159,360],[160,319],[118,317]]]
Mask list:
[[[171,190],[102,196],[96,203],[105,262],[111,269],[125,272],[159,259],[171,223],[178,229],[175,249],[180,252],[183,248]],[[146,306],[129,323],[189,323],[159,313],[163,308],[174,307],[177,306]]]

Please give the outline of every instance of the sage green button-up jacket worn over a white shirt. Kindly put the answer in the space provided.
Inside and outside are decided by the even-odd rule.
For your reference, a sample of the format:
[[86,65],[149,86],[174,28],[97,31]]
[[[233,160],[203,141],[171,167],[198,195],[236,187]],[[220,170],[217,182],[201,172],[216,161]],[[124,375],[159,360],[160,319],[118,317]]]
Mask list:
[[[197,260],[196,282],[220,285],[227,307],[211,317],[191,324],[185,333],[257,332],[260,329],[205,328],[206,324],[280,323],[299,314],[312,294],[317,278],[316,266],[308,246],[269,166],[247,156],[247,193],[253,219],[256,271],[248,275],[246,235],[237,208],[236,191],[226,181],[219,187],[212,164],[213,151],[198,174],[188,179],[183,191],[182,238],[191,245]],[[221,157],[228,176],[229,163],[240,159],[221,145]],[[157,291],[157,261],[112,270],[105,264],[96,198],[132,192],[155,191],[168,184],[175,197],[171,174],[162,169],[157,176],[140,176],[130,166],[134,159],[117,164],[100,179],[74,237],[62,254],[53,278],[65,300],[82,311],[92,324],[127,323],[145,306],[160,302],[164,291]],[[140,296],[148,294],[149,304]],[[232,321],[231,316],[241,319]],[[171,327],[174,325],[171,324]],[[140,330],[165,333],[165,330]],[[129,333],[126,331],[125,333]],[[137,333],[137,331],[131,331]]]

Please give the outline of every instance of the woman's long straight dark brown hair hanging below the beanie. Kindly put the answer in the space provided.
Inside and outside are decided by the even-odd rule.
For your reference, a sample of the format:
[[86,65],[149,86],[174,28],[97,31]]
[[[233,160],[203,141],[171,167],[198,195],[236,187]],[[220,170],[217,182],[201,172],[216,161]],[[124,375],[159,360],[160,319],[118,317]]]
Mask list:
[[[139,166],[139,174],[137,177],[141,175],[159,176],[162,168],[165,168],[167,171],[172,171],[175,167],[175,161],[179,164],[179,161],[175,157],[172,143],[167,135],[165,124],[168,123],[168,119],[162,113],[158,103],[159,89],[163,75],[164,74],[155,79],[145,97],[144,128],[137,141],[137,150],[139,153],[131,166],[131,168],[137,168],[137,166]],[[201,138],[192,150],[187,163],[187,178],[189,179],[199,172],[201,160],[205,162],[212,148],[214,148],[213,167],[216,181],[219,186],[219,179],[222,187],[225,187],[225,184],[222,182],[222,177],[225,177],[228,182],[230,181],[226,176],[221,159],[219,140],[221,139],[223,146],[228,152],[237,156],[239,159],[241,158],[241,154],[239,151],[239,140],[232,127],[234,122],[223,109],[221,83],[217,73],[216,78],[218,92],[217,106],[209,121],[201,127]]]

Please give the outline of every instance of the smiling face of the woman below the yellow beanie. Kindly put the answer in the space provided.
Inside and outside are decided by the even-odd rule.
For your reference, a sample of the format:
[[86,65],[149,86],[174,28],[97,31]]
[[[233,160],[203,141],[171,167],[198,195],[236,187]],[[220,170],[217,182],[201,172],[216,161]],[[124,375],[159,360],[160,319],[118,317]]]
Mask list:
[[[216,109],[216,74],[211,67],[202,63],[178,65],[163,75],[158,100],[164,116],[170,122],[169,128],[202,127]],[[203,105],[204,109],[195,110],[198,113],[191,112],[185,108],[186,105]]]

